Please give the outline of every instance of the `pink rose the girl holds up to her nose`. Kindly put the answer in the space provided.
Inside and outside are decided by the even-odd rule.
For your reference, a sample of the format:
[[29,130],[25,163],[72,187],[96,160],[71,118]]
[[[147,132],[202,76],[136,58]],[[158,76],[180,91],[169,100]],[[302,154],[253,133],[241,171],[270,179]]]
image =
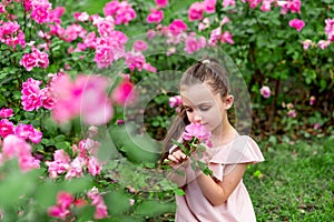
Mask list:
[[191,141],[193,139],[198,139],[200,143],[207,144],[209,148],[213,147],[212,132],[206,129],[203,124],[190,123],[185,128],[183,133],[183,139],[186,141]]

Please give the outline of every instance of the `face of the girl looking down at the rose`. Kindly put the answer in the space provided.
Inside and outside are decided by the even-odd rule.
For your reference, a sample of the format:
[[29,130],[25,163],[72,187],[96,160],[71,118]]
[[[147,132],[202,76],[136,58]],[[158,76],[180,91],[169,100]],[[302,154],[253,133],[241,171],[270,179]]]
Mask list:
[[180,88],[180,95],[191,123],[204,124],[207,130],[215,133],[216,130],[222,130],[224,121],[228,121],[226,110],[230,108],[233,99],[230,104],[224,102],[222,95],[213,92],[209,84],[184,85]]

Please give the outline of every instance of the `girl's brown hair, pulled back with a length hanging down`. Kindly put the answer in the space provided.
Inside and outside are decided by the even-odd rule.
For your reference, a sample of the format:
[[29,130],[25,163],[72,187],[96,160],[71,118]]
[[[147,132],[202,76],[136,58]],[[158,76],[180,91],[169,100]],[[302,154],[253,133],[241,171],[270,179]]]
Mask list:
[[[230,89],[227,70],[214,58],[206,57],[189,67],[180,79],[179,89],[181,87],[190,87],[204,82],[208,83],[214,92],[219,93],[222,99],[229,94]],[[163,161],[168,157],[169,149],[173,147],[173,140],[178,140],[185,127],[189,123],[186,110],[181,107],[178,117],[174,120],[164,140],[164,152],[160,158],[160,164],[163,164]]]

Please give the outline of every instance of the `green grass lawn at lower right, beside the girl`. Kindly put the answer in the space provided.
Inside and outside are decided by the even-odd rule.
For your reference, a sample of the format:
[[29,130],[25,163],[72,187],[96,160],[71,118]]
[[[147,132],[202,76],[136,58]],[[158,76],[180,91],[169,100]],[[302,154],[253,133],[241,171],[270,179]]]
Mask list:
[[257,221],[334,221],[334,138],[269,145],[244,176]]

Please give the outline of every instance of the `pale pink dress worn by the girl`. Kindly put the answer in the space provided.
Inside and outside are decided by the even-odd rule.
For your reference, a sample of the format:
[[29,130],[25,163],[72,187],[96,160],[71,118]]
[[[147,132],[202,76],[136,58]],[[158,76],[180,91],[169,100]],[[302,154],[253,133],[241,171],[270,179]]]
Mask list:
[[[208,168],[218,181],[223,181],[224,175],[233,173],[233,167],[236,163],[258,163],[264,161],[258,145],[247,135],[238,135],[225,145],[209,148],[207,152],[212,157]],[[243,180],[240,180],[225,203],[214,206],[203,195],[191,164],[188,164],[183,171],[183,180],[180,183],[178,181],[178,184],[186,194],[181,196],[176,195],[176,222],[256,221],[253,204]]]

